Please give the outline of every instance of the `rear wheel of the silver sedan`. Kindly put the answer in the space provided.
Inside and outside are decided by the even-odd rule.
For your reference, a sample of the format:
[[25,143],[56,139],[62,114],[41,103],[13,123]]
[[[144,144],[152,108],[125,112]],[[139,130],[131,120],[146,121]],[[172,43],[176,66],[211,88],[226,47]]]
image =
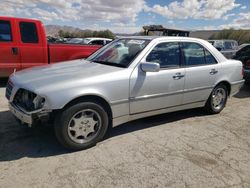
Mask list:
[[205,110],[210,114],[220,113],[226,106],[227,98],[228,98],[227,87],[224,84],[217,85],[213,89],[212,93],[210,94],[206,102]]

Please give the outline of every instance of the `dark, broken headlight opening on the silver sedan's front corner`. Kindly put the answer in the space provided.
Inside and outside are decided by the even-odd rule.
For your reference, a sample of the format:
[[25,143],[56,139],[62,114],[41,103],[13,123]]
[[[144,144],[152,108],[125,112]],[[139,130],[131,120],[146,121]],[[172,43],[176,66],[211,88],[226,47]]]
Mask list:
[[44,106],[45,98],[25,89],[19,89],[14,98],[14,104],[31,112]]

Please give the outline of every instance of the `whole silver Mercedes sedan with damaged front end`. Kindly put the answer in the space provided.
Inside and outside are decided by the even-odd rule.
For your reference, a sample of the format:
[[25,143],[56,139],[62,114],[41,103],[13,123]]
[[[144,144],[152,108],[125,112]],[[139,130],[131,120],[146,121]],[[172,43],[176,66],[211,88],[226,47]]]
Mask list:
[[52,121],[62,145],[95,145],[108,127],[204,107],[219,113],[243,85],[242,63],[187,37],[120,38],[85,60],[13,73],[11,112],[32,126]]

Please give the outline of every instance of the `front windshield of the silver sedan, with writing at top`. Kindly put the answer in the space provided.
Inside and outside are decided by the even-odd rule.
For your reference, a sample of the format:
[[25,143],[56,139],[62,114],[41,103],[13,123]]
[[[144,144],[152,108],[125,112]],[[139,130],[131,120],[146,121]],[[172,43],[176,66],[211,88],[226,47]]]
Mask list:
[[149,40],[142,39],[116,40],[99,53],[90,56],[88,60],[110,66],[128,67],[148,43]]

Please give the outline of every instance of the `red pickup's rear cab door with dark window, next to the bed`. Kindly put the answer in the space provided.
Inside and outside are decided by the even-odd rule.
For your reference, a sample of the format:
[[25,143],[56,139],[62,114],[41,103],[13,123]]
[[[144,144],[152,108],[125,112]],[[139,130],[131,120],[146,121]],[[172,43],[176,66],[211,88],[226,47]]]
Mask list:
[[22,69],[48,63],[47,42],[40,22],[18,21]]

